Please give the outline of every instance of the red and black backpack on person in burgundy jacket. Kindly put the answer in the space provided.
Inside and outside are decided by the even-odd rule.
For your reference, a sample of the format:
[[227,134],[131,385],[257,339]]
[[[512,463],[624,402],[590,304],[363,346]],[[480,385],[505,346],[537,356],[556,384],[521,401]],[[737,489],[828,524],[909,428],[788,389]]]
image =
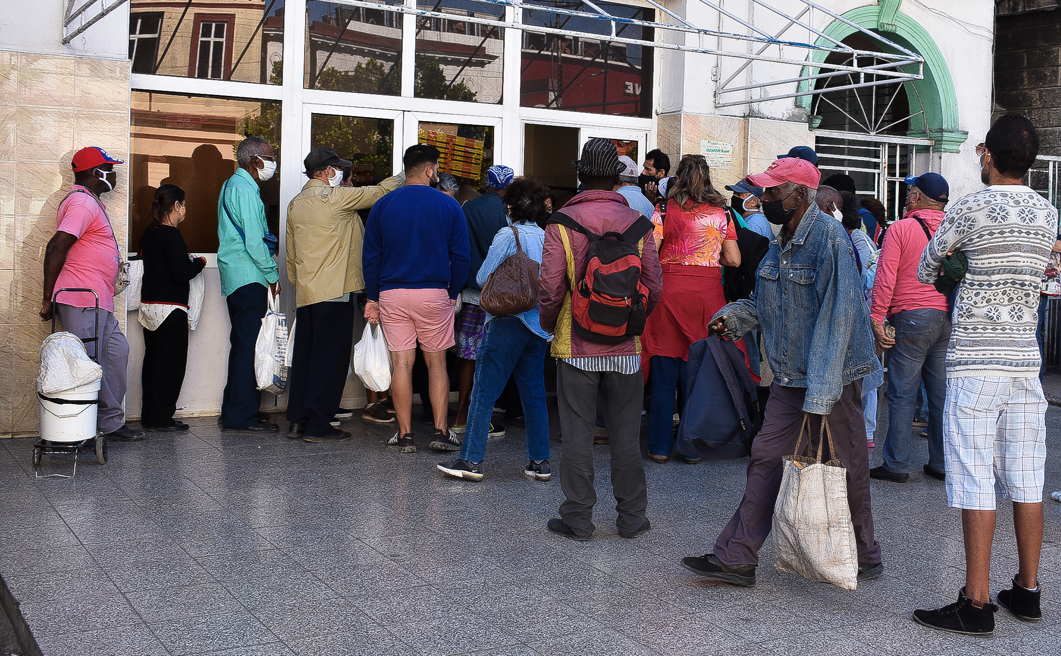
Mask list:
[[[587,341],[618,344],[645,331],[648,289],[641,284],[641,240],[653,229],[644,215],[623,232],[595,234],[562,212],[549,223],[586,235],[586,268],[574,277],[571,314],[575,334]],[[567,246],[567,245],[566,245]],[[574,251],[568,248],[571,262]]]

